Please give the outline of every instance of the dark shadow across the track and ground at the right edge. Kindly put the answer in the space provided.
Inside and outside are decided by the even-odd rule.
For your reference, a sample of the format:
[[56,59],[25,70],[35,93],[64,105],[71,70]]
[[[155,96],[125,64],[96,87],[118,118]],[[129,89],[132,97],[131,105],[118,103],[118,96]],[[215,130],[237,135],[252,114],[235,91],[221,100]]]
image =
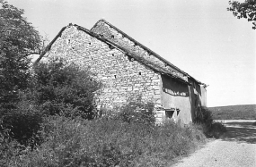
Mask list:
[[221,139],[225,141],[245,142],[256,144],[256,126],[253,122],[227,122],[227,132]]

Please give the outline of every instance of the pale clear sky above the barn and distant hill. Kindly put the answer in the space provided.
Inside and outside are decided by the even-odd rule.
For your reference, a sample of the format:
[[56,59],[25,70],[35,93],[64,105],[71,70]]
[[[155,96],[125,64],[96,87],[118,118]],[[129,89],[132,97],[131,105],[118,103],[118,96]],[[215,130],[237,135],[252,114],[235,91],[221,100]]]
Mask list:
[[256,30],[228,0],[8,0],[52,40],[100,19],[206,83],[207,106],[256,104]]

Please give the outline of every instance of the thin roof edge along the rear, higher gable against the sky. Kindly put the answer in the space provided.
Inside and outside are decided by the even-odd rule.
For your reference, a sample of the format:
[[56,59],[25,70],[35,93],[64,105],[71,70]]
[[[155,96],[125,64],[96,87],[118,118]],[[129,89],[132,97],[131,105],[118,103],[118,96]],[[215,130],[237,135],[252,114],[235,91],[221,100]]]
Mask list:
[[115,26],[113,26],[112,24],[110,24],[110,22],[108,21],[105,21],[105,20],[100,20],[100,21],[97,21],[93,28],[91,29],[91,31],[94,31],[94,29],[99,25],[100,22],[104,22],[106,23],[107,25],[109,25],[112,29],[115,29],[116,31],[118,31],[123,37],[125,38],[128,38],[130,41],[134,42],[135,44],[137,44],[137,46],[140,46],[142,47],[144,50],[146,50],[147,53],[151,54],[151,55],[154,55],[154,57],[156,57],[157,59],[159,59],[160,61],[162,61],[163,63],[165,63],[167,66],[171,67],[172,69],[176,70],[176,71],[179,71],[181,72],[184,76],[196,81],[197,83],[201,84],[201,85],[204,85],[205,87],[207,87],[206,84],[200,82],[199,80],[197,79],[194,79],[193,77],[190,76],[190,74],[188,74],[187,72],[185,71],[181,71],[180,68],[178,68],[177,66],[173,65],[172,63],[168,62],[167,60],[165,60],[163,57],[161,57],[159,54],[156,54],[154,53],[152,50],[150,50],[149,48],[147,48],[146,46],[143,46],[142,44],[140,44],[139,42],[137,42],[137,40],[135,40],[134,38],[131,38],[129,37],[126,33],[124,33],[123,31],[121,31],[120,29],[116,28]]

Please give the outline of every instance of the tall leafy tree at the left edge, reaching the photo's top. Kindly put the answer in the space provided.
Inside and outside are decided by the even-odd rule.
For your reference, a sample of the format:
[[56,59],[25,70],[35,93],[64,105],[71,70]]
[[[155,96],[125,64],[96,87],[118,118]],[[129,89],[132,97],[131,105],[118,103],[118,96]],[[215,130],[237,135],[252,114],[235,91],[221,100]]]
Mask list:
[[24,11],[0,0],[0,107],[13,108],[17,92],[27,88],[30,54],[40,54],[40,35]]

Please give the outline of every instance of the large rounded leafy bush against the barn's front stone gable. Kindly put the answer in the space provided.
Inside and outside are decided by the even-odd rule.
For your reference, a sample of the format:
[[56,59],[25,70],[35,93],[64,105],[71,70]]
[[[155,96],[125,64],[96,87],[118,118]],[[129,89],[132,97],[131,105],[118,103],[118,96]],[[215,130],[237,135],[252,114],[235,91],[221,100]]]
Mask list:
[[94,92],[101,88],[101,84],[92,75],[63,60],[38,64],[32,88],[35,104],[46,115],[93,119]]

